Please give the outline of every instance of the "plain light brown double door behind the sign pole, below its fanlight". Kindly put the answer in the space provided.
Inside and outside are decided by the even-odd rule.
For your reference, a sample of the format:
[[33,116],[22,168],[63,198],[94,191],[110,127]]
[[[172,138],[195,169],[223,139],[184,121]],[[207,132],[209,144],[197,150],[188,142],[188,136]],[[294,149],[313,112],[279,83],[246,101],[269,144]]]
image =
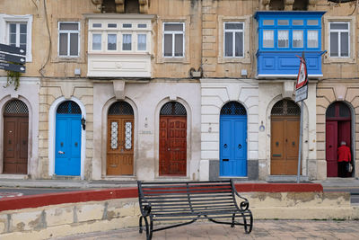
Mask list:
[[300,119],[293,116],[272,116],[271,128],[270,173],[297,174]]

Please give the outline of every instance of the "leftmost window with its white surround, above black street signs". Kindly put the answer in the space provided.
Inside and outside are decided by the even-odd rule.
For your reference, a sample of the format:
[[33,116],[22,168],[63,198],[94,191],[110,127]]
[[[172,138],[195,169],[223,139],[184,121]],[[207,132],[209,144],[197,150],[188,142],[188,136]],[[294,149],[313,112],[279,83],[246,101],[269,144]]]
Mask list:
[[0,42],[26,49],[26,61],[31,54],[32,15],[7,15],[0,13]]

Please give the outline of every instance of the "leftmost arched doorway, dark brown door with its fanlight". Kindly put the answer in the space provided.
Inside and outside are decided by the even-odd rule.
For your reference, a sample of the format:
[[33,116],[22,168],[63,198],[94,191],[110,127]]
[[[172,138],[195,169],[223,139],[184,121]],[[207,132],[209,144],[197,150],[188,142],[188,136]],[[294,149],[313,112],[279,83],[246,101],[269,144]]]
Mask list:
[[4,107],[4,171],[28,173],[29,109],[20,100]]

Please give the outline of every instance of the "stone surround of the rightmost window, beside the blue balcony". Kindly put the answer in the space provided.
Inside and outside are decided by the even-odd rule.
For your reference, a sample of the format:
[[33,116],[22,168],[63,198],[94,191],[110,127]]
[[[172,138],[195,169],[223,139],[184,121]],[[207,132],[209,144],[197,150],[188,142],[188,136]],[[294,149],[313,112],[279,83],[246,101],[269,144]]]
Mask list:
[[324,57],[324,64],[328,63],[356,63],[356,41],[355,41],[355,27],[356,21],[355,16],[323,16],[324,21],[324,48],[329,49],[329,22],[349,22],[349,58],[343,57],[330,57],[327,52]]

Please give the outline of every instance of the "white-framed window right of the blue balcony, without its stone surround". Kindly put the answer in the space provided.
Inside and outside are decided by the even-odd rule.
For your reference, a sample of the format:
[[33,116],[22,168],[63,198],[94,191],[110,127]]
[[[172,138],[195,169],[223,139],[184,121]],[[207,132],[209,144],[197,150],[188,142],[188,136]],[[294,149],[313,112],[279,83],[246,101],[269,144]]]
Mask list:
[[349,22],[329,23],[330,57],[349,57]]

